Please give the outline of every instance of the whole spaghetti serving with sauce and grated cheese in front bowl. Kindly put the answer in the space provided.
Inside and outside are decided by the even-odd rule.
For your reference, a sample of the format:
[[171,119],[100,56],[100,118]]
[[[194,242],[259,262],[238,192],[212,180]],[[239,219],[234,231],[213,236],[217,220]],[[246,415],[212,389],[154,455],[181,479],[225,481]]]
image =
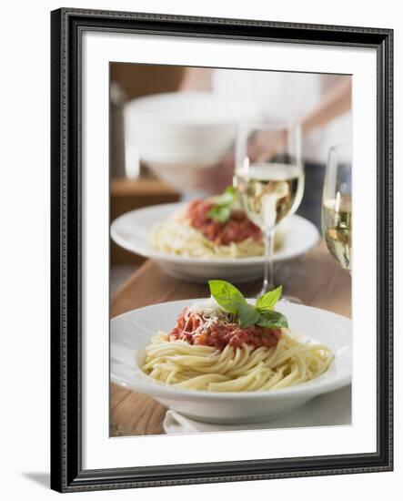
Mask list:
[[[227,284],[210,281],[210,289],[212,282]],[[143,371],[159,383],[209,392],[274,391],[325,373],[333,353],[323,344],[300,341],[281,326],[287,324],[281,313],[260,308],[264,320],[257,322],[271,327],[240,325],[247,323],[249,307],[261,314],[260,300],[255,307],[238,305],[238,313],[225,311],[214,298],[186,308],[171,332],[158,332],[146,347]],[[248,315],[253,320],[251,310]]]

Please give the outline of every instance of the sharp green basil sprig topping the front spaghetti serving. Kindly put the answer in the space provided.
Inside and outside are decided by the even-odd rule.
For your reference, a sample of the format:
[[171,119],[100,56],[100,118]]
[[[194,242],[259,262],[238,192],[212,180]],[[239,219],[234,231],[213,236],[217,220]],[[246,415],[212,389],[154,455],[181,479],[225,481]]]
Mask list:
[[210,280],[208,285],[211,295],[221,308],[225,312],[237,315],[240,327],[250,327],[255,323],[261,327],[288,327],[286,316],[274,311],[274,306],[281,296],[281,285],[257,298],[255,305],[249,304],[242,292],[227,281]]

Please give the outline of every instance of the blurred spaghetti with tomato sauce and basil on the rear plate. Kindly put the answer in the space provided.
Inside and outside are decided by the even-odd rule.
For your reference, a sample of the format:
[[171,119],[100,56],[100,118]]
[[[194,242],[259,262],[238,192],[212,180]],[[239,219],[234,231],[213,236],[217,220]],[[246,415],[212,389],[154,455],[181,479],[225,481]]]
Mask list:
[[[196,199],[178,210],[151,230],[150,245],[156,251],[202,259],[262,256],[261,231],[240,210],[237,199],[220,205],[226,195],[228,192],[217,198]],[[275,237],[275,249],[279,241]]]

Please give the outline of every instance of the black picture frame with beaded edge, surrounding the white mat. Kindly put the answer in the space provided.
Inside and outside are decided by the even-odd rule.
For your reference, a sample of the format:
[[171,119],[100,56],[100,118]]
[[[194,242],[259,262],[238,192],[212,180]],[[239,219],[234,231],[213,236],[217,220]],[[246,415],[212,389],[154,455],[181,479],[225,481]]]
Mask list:
[[[373,454],[84,470],[81,462],[81,36],[86,30],[373,47],[378,61],[378,447]],[[393,30],[62,8],[51,13],[51,487],[59,492],[393,468]]]

